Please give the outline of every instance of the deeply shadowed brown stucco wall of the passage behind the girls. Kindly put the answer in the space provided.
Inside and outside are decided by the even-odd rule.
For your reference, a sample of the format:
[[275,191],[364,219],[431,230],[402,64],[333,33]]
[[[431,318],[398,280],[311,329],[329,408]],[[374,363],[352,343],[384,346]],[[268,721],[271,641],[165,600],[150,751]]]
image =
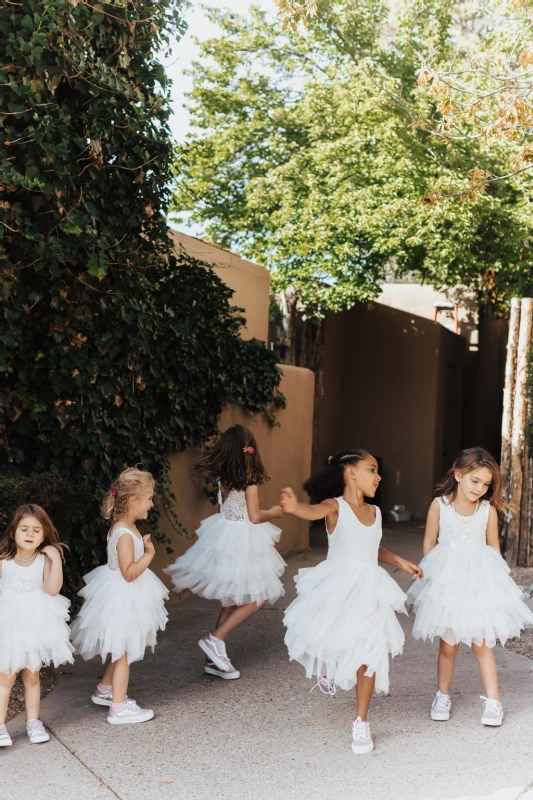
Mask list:
[[360,447],[383,460],[382,508],[422,518],[460,445],[464,339],[378,303],[326,319],[316,465]]

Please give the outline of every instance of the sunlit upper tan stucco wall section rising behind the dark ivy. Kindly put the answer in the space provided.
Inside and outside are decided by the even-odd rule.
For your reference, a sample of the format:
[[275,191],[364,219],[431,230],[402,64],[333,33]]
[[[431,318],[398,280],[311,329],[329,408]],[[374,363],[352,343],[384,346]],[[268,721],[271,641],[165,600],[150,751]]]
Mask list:
[[247,261],[222,247],[172,231],[176,246],[181,245],[189,255],[206,261],[224,283],[233,289],[232,304],[244,309],[246,328],[243,339],[268,340],[268,311],[270,305],[270,275],[268,270]]

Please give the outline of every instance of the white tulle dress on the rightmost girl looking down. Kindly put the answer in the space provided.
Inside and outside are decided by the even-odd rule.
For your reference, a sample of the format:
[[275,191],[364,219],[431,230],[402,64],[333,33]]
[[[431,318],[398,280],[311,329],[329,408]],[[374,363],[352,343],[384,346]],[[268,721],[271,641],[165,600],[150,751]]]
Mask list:
[[533,624],[533,613],[498,550],[487,545],[490,504],[482,500],[475,514],[464,517],[446,498],[438,502],[438,544],[420,563],[424,579],[408,592],[416,614],[413,636],[440,636],[450,645],[504,644]]

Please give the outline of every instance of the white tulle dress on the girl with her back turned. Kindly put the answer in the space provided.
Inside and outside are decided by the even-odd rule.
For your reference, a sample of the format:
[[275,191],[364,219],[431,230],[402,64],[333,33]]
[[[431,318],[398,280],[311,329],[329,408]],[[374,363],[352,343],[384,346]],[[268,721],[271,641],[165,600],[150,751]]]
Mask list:
[[274,547],[281,530],[270,522],[250,522],[245,492],[232,489],[220,511],[196,531],[198,541],[164,571],[177,592],[219,600],[223,606],[274,603],[285,593],[280,581],[287,566]]

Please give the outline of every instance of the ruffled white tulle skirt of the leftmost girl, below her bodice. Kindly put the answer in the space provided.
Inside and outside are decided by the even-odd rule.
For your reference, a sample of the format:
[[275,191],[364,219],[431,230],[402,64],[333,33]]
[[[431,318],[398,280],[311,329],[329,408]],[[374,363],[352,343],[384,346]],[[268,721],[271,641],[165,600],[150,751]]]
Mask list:
[[69,606],[66,597],[37,589],[0,594],[0,672],[73,662]]

